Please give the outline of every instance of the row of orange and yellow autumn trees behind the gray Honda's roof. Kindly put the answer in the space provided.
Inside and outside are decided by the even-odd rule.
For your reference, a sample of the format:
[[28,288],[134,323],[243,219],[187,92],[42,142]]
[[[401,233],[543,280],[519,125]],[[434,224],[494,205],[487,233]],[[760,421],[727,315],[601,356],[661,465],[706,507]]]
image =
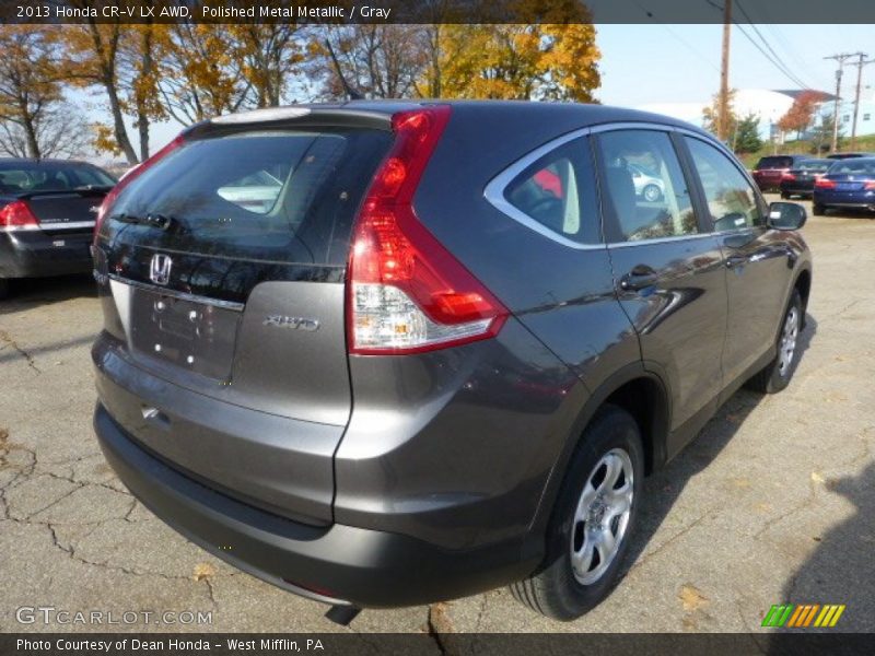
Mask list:
[[0,137],[22,132],[39,154],[34,112],[38,122],[77,89],[109,116],[92,126],[92,145],[131,164],[149,156],[158,121],[190,125],[338,99],[348,90],[374,98],[595,102],[600,54],[582,3],[557,0],[545,11],[533,0],[497,0],[493,10],[525,21],[510,25],[441,23],[441,8],[452,3],[433,4],[436,22],[421,25],[0,25],[9,55],[0,67]]

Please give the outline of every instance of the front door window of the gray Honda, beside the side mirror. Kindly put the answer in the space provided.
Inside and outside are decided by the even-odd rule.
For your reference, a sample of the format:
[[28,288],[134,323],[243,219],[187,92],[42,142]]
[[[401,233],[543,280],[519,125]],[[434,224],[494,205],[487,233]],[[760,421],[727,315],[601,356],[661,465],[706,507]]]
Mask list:
[[743,230],[765,223],[759,196],[742,172],[713,145],[685,137],[692,164],[704,189],[708,211],[716,232]]

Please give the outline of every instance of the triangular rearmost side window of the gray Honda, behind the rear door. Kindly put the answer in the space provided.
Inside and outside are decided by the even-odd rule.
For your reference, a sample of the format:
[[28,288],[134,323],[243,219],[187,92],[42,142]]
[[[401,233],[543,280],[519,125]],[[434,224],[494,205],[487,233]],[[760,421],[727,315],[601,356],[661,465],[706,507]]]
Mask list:
[[599,241],[593,178],[588,144],[582,137],[528,165],[504,188],[504,199],[550,232],[593,244]]

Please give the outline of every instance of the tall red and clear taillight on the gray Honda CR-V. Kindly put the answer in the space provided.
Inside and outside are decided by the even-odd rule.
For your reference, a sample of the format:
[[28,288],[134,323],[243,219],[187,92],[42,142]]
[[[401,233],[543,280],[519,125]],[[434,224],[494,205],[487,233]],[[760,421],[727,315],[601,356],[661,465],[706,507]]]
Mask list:
[[393,116],[395,143],[357,218],[347,268],[351,353],[401,354],[493,337],[506,308],[419,222],[413,195],[447,105]]

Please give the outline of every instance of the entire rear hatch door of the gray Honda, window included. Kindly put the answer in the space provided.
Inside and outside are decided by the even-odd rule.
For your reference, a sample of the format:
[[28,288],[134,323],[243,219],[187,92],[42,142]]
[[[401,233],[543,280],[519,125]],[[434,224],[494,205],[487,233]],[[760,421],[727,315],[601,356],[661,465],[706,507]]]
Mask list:
[[201,129],[122,190],[95,257],[131,365],[110,413],[206,484],[319,524],[351,410],[350,233],[392,132],[310,119]]

